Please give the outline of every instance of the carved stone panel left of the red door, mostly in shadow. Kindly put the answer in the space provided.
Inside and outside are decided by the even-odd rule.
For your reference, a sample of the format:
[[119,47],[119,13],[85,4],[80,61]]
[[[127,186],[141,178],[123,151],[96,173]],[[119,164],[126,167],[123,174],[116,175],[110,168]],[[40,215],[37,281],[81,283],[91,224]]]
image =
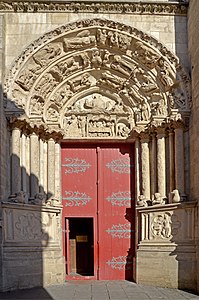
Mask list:
[[61,207],[2,202],[4,246],[61,246]]

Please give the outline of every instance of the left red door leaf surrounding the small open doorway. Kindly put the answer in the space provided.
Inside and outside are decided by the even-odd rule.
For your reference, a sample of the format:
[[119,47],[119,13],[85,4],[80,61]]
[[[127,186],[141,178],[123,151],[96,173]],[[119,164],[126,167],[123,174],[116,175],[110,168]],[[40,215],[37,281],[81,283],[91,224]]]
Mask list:
[[[97,279],[97,155],[96,147],[64,147],[62,148],[62,204],[63,228],[67,218],[92,217],[94,230],[94,278]],[[70,221],[69,221],[70,228]],[[70,230],[70,229],[69,229]],[[69,237],[65,229],[64,255],[66,257],[66,270],[70,278],[68,257]],[[77,234],[78,235],[78,234]],[[69,235],[68,235],[69,236]],[[74,242],[74,239],[73,239]],[[81,244],[80,244],[81,245]],[[83,244],[82,244],[83,245]],[[78,244],[77,244],[78,247]],[[86,260],[87,257],[80,258]],[[72,278],[71,278],[72,279]],[[82,279],[75,277],[74,279]]]

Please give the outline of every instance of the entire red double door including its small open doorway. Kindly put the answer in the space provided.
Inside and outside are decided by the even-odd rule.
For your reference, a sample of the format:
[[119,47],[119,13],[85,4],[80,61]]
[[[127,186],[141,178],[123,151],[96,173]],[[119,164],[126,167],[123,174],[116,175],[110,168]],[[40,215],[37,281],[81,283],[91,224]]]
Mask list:
[[133,150],[132,144],[62,145],[68,279],[133,279]]

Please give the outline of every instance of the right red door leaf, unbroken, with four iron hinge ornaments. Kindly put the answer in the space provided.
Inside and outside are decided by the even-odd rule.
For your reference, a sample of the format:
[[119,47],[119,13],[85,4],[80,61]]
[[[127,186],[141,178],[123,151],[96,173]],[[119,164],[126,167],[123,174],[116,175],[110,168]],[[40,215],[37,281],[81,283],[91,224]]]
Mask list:
[[[133,166],[129,146],[101,148],[99,181],[100,279],[132,279]],[[131,154],[130,154],[131,153]]]

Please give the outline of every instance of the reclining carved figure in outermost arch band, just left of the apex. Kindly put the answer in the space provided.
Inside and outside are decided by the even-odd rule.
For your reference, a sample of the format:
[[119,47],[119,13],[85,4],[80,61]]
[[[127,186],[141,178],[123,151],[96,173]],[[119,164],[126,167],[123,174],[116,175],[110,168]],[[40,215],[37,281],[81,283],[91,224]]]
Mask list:
[[89,30],[83,30],[76,37],[65,38],[63,42],[64,51],[78,49],[96,44],[96,37]]

